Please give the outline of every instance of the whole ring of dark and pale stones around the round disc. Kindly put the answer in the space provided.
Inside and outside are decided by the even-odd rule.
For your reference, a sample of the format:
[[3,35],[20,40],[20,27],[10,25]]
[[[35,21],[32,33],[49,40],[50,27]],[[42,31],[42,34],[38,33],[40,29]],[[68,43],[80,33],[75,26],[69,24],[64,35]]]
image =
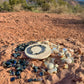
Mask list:
[[[25,48],[31,44],[36,43],[36,41],[30,41],[28,43],[23,43],[18,45],[15,48],[15,53],[12,54],[12,56],[14,57],[13,59],[10,59],[6,62],[3,62],[3,66],[5,68],[10,68],[10,67],[14,67],[12,70],[8,71],[10,73],[10,75],[15,76],[12,77],[10,79],[10,81],[14,81],[15,79],[21,78],[20,74],[21,72],[23,72],[27,66],[30,66],[31,64],[25,60],[25,59],[18,59],[21,56],[20,51],[24,51]],[[45,44],[48,44],[51,48],[52,53],[55,53],[57,56],[60,57],[61,61],[64,64],[64,68],[68,68],[68,64],[73,62],[73,57],[71,55],[71,53],[68,51],[68,49],[66,48],[60,48],[60,45],[55,45],[49,42],[43,42]],[[74,51],[73,51],[74,52]],[[45,72],[52,74],[52,73],[57,73],[58,67],[59,65],[57,63],[55,63],[56,58],[47,58],[47,60],[43,60],[43,63],[45,65],[45,69],[40,69],[37,66],[31,65],[31,67],[33,68],[33,71],[35,73],[39,72],[39,76],[44,76]],[[32,81],[40,81],[41,79],[28,79],[28,82],[32,82]]]

